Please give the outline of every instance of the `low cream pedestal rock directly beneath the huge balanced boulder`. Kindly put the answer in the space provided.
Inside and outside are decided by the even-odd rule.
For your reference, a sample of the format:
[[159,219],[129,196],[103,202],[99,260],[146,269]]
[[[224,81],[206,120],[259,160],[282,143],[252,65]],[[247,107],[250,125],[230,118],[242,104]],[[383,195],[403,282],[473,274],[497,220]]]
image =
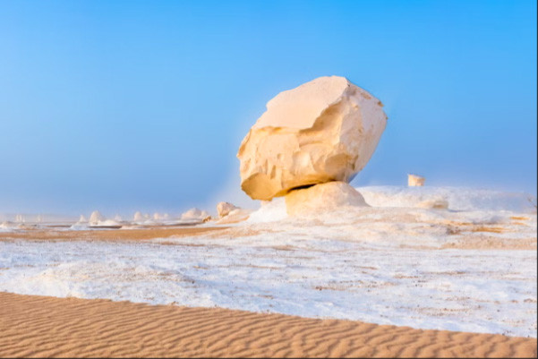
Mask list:
[[326,212],[347,206],[369,207],[361,193],[341,181],[316,184],[286,194],[286,211],[289,216]]

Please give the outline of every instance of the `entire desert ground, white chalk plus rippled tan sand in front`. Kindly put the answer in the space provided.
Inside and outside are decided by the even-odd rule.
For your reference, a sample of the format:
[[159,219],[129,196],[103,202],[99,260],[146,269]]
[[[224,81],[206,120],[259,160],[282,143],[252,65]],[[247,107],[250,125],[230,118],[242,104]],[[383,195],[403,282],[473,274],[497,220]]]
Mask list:
[[535,200],[357,191],[226,225],[5,223],[0,355],[536,356]]

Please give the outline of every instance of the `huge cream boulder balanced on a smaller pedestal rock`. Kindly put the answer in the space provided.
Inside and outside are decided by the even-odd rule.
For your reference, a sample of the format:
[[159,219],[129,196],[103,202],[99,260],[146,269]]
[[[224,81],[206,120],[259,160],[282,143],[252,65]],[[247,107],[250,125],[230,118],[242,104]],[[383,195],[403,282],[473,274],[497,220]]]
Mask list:
[[385,130],[382,107],[338,76],[279,93],[237,153],[243,191],[267,201],[305,185],[351,181]]

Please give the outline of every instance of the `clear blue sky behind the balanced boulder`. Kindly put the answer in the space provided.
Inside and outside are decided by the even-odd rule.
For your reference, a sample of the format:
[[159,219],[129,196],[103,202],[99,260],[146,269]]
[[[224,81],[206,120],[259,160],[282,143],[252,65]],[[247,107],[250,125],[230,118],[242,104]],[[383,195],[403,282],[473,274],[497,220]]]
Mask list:
[[0,212],[234,201],[235,153],[265,103],[332,74],[389,115],[354,185],[414,172],[536,193],[535,1],[13,0]]

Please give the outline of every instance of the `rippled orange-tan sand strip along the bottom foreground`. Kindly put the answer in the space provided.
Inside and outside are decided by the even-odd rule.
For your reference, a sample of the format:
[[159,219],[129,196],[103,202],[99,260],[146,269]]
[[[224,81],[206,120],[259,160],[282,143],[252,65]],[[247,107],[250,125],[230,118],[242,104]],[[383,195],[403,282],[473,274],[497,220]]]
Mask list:
[[0,356],[536,357],[535,338],[0,293]]

